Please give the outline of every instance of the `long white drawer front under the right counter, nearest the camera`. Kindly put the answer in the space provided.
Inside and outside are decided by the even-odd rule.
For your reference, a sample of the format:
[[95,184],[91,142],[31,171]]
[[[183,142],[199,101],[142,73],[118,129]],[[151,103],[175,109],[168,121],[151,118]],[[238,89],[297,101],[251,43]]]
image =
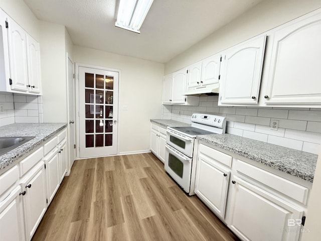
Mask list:
[[237,160],[236,170],[306,205],[308,188]]

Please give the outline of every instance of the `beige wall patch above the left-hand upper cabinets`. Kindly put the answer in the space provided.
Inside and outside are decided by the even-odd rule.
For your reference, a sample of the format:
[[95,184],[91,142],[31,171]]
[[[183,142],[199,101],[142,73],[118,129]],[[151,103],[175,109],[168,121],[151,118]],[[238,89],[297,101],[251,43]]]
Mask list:
[[23,0],[0,0],[0,8],[39,42],[39,21]]

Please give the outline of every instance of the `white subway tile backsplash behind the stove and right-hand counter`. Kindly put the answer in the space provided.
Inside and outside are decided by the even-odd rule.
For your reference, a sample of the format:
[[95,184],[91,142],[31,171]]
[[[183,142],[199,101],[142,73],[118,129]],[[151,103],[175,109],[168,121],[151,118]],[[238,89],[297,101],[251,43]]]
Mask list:
[[[226,116],[226,133],[318,154],[321,144],[320,108],[218,106],[218,96],[200,97],[199,106],[163,105],[162,117],[191,123],[193,113]],[[279,121],[278,130],[271,122]]]

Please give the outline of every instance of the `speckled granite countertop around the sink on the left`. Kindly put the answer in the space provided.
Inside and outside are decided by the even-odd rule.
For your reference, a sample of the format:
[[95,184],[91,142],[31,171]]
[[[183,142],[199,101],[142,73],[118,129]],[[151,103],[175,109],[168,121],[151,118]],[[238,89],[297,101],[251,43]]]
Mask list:
[[22,123],[0,127],[0,137],[35,137],[0,156],[0,174],[66,127],[66,123]]

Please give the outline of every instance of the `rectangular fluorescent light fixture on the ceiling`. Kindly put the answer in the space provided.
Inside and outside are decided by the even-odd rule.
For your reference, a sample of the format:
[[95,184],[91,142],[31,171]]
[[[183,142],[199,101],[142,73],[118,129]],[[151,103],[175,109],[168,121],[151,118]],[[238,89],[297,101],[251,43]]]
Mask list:
[[140,34],[153,0],[120,0],[115,26]]

